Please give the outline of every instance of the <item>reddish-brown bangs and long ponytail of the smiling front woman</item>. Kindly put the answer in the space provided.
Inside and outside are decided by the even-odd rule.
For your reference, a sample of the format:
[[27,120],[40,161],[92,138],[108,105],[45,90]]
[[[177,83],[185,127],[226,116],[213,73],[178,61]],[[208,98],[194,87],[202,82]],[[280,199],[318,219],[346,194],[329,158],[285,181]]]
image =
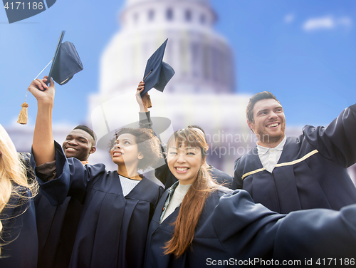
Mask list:
[[[200,148],[202,160],[206,158],[206,150],[209,148],[204,136],[194,128],[186,128],[175,132],[169,138],[167,148],[172,143],[176,143],[177,148],[181,145]],[[183,198],[177,220],[173,223],[174,233],[172,239],[164,244],[164,254],[174,254],[175,257],[180,257],[192,245],[195,229],[203,212],[206,199],[211,192],[216,190],[216,187],[218,185],[211,178],[210,173],[206,168],[200,167],[197,179],[194,180],[187,195]]]

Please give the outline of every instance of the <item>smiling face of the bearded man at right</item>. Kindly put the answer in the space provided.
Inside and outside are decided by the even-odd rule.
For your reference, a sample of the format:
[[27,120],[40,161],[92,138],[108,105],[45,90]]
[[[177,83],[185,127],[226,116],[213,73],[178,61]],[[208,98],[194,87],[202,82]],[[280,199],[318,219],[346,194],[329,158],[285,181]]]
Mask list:
[[247,124],[256,134],[258,145],[275,147],[284,138],[286,118],[281,104],[273,98],[258,100],[253,106],[253,123]]

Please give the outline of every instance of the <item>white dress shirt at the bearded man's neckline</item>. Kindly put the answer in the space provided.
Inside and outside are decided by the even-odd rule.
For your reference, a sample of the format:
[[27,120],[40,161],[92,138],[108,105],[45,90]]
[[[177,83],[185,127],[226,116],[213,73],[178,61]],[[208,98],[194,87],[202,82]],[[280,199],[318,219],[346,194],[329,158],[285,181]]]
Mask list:
[[286,140],[287,138],[284,136],[281,143],[279,143],[275,148],[266,148],[261,145],[257,145],[258,157],[261,160],[263,168],[265,168],[268,172],[272,172],[276,167],[279,158],[281,158]]

